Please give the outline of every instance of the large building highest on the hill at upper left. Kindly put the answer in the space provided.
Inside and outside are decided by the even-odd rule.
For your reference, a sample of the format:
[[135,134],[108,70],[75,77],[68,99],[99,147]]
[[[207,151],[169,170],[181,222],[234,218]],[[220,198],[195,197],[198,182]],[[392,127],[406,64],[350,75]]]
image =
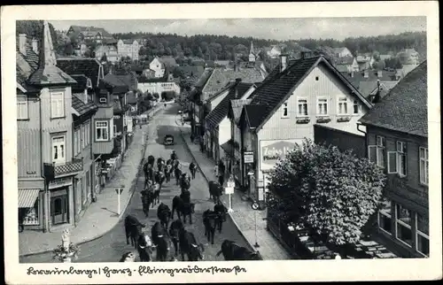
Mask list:
[[71,42],[101,43],[113,40],[113,35],[109,34],[103,27],[71,26],[66,35],[71,39]]

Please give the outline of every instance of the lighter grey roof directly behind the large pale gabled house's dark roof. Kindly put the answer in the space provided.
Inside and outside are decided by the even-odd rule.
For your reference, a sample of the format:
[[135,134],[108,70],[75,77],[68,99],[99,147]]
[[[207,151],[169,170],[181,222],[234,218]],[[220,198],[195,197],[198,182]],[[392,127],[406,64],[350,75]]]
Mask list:
[[260,71],[255,68],[245,68],[238,71],[214,68],[214,72],[206,81],[206,85],[202,92],[206,94],[214,94],[226,86],[229,81],[235,81],[237,78],[241,78],[242,82],[245,83],[263,81]]

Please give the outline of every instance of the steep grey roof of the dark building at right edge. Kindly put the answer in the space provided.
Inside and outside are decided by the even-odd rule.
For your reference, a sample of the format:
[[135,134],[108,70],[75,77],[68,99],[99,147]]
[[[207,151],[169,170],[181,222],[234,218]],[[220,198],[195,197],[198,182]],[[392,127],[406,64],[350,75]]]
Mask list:
[[360,121],[364,125],[427,137],[427,93],[427,62],[424,61],[361,117]]

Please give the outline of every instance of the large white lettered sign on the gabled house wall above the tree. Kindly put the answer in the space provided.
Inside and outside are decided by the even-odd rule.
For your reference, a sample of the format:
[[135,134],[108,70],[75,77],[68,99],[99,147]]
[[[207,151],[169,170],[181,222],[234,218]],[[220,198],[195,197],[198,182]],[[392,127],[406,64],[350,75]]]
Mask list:
[[284,158],[286,153],[293,150],[297,145],[301,146],[303,139],[260,141],[260,170],[271,170],[276,166],[279,159]]

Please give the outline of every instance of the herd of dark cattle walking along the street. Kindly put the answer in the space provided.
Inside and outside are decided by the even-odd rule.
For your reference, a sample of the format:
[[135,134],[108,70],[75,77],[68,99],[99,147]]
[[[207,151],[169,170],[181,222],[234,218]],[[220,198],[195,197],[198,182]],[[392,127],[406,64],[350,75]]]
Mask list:
[[[157,209],[158,221],[152,226],[151,237],[144,232],[146,225],[136,219],[133,215],[128,215],[124,221],[127,244],[133,245],[138,252],[138,259],[142,262],[152,260],[154,250],[156,251],[156,261],[177,261],[175,257],[179,254],[182,260],[185,256],[189,261],[203,260],[205,250],[203,243],[198,243],[195,235],[187,231],[184,225],[186,218],[189,217],[192,224],[192,214],[195,204],[190,200],[190,176],[183,173],[183,167],[180,164],[175,151],[171,158],[165,161],[163,158],[157,159],[157,169],[154,169],[155,158],[148,157],[144,164],[144,190],[142,194],[143,211],[148,217],[149,209],[159,204]],[[197,166],[190,164],[191,176],[195,177]],[[172,200],[172,211],[163,202],[159,202],[161,187],[164,182],[171,180],[171,175],[175,175],[175,184],[180,186],[180,196],[175,196]],[[205,236],[208,243],[214,244],[215,231],[221,233],[222,224],[226,220],[226,209],[221,204],[222,195],[221,185],[215,181],[209,182],[209,195],[214,199],[214,210],[208,209],[203,212],[203,224],[205,227]],[[177,220],[174,220],[174,213],[177,213]],[[171,223],[170,220],[173,220]],[[169,254],[170,244],[174,245],[174,254]],[[236,243],[224,240],[221,243],[221,253],[225,260],[259,260],[258,252],[247,250]],[[168,258],[169,256],[169,258]],[[135,262],[136,255],[133,252],[127,252],[120,258],[120,262]]]

